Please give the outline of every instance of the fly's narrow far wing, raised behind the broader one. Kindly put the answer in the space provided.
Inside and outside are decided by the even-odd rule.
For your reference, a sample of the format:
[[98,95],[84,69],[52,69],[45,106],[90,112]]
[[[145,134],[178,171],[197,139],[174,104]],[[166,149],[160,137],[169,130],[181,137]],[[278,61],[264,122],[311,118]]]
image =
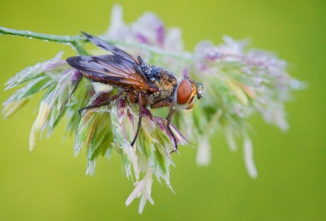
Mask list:
[[93,44],[95,44],[96,46],[104,49],[105,51],[111,52],[114,55],[120,55],[122,57],[124,57],[125,59],[131,61],[131,62],[136,62],[137,64],[141,64],[140,61],[138,59],[135,59],[134,57],[132,57],[131,55],[129,55],[128,53],[122,51],[119,47],[110,44],[98,37],[95,37],[93,35],[87,34],[85,32],[82,32],[87,38],[88,40],[90,40]]

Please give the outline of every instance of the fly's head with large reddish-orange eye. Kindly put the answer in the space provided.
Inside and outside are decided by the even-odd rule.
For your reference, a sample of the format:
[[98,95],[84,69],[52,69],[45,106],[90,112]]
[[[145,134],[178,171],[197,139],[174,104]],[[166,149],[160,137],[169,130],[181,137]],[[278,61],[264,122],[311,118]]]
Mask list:
[[181,79],[175,94],[174,104],[177,109],[192,109],[195,104],[195,99],[202,97],[204,86],[190,78],[184,77]]

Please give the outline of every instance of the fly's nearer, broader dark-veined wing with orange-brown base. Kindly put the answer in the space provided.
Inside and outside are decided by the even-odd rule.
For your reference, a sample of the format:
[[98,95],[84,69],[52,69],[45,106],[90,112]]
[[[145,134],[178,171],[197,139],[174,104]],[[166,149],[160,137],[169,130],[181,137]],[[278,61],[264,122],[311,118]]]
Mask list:
[[94,82],[157,90],[151,87],[135,62],[120,55],[75,56],[66,61],[70,66],[84,72],[84,76]]

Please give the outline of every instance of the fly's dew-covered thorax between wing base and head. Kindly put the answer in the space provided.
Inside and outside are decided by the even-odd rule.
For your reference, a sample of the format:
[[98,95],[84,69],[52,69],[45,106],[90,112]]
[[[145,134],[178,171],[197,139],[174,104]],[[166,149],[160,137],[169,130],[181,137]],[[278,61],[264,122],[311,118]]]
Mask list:
[[170,100],[177,87],[177,78],[175,73],[169,69],[150,66],[143,63],[139,66],[149,82],[158,88],[156,92],[145,94],[147,98],[147,104],[153,104],[159,101]]

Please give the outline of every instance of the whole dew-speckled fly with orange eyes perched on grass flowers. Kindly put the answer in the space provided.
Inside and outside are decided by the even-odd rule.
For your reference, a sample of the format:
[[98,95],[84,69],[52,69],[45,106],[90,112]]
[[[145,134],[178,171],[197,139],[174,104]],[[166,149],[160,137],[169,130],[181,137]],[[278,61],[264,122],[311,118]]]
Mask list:
[[142,109],[147,106],[151,108],[170,106],[166,126],[174,140],[173,152],[176,152],[177,141],[170,128],[172,114],[176,110],[193,108],[196,95],[197,99],[202,97],[203,85],[188,77],[177,80],[175,73],[166,68],[149,65],[140,56],[134,58],[113,44],[82,33],[92,43],[113,55],[75,56],[66,61],[90,81],[111,85],[119,90],[104,103],[80,108],[79,114],[83,110],[108,105],[120,96],[126,96],[131,103],[138,103],[138,128],[130,143],[133,146],[142,125]]

